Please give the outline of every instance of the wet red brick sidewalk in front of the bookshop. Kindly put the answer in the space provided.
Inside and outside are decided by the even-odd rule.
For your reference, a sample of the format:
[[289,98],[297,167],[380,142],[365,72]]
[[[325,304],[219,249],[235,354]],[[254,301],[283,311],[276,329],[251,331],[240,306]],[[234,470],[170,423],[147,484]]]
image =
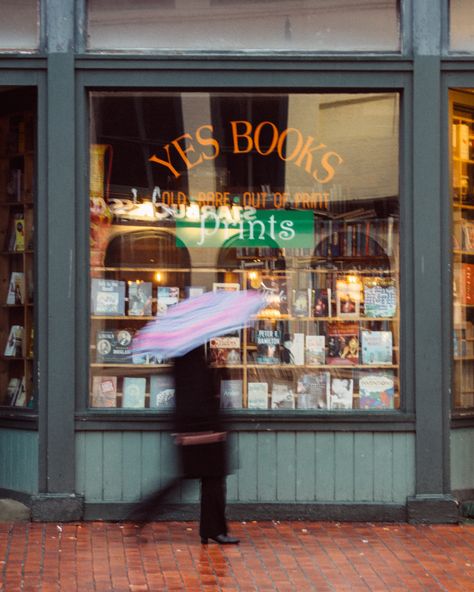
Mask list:
[[0,524],[1,592],[474,591],[474,525],[235,522]]

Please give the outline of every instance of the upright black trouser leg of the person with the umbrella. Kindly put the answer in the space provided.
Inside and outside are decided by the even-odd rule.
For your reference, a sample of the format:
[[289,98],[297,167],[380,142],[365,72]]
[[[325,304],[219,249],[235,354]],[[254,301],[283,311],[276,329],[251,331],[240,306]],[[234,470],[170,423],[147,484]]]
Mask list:
[[218,534],[227,534],[225,496],[225,477],[201,478],[201,537],[213,538]]

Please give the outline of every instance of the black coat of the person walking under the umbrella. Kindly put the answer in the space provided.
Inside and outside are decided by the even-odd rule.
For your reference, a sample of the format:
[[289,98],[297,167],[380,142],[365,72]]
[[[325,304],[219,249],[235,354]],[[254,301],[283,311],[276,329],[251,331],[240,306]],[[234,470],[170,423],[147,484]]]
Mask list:
[[[218,390],[204,347],[177,358],[175,430],[178,433],[221,432]],[[182,474],[186,478],[227,474],[225,440],[212,444],[179,445]]]

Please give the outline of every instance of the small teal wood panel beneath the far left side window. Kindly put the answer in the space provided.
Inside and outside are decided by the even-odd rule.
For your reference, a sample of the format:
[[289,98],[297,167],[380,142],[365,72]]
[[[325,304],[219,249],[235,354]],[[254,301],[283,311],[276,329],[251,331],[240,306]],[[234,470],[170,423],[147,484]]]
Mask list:
[[22,493],[38,492],[38,433],[0,430],[0,487]]

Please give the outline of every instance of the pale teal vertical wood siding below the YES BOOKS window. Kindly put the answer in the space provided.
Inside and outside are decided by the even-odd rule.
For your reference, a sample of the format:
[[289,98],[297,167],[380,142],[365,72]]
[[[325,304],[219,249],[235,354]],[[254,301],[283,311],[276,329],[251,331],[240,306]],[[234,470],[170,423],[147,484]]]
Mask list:
[[[163,485],[176,468],[168,434],[82,432],[77,488],[87,502],[132,501]],[[414,493],[414,436],[405,433],[240,432],[229,502],[397,502]],[[197,483],[176,501],[196,502]]]

